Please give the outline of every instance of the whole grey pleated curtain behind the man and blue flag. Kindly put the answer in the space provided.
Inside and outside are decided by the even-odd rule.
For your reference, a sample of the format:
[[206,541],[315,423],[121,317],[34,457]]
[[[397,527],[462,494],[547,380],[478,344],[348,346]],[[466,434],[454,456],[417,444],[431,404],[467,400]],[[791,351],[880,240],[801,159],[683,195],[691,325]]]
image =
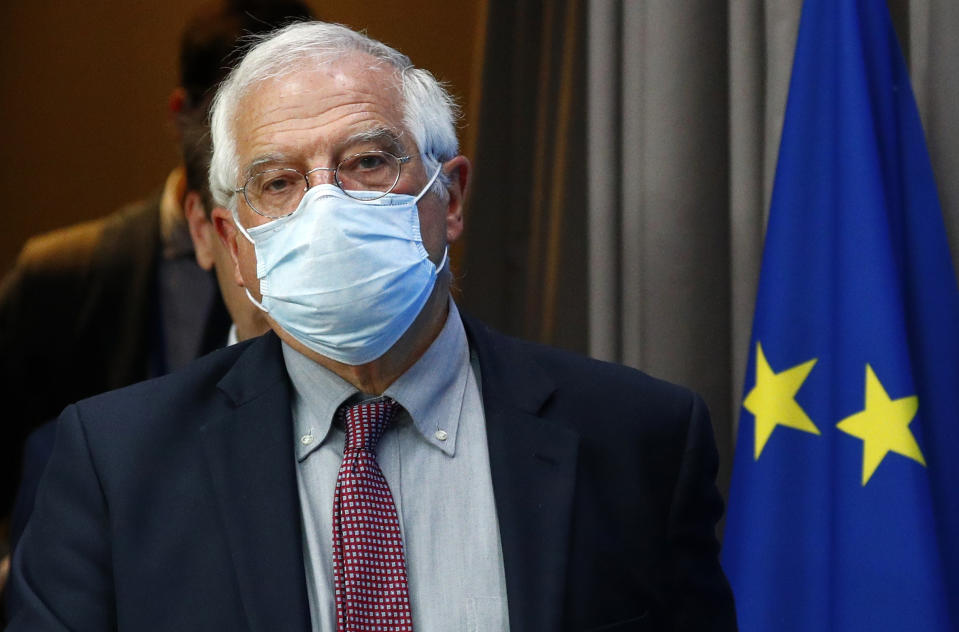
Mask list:
[[[959,3],[888,4],[959,264]],[[489,4],[461,302],[700,392],[724,488],[801,5]]]

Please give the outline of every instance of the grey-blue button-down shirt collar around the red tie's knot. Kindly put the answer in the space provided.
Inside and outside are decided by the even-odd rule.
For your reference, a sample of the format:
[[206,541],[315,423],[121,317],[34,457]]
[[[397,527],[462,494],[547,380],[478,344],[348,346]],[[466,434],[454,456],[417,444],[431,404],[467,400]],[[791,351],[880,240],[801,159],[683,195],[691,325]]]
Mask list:
[[[299,400],[294,406],[302,405],[314,413],[310,418],[294,415],[296,458],[302,461],[326,440],[337,408],[359,391],[285,342],[282,346],[293,397]],[[403,406],[427,443],[453,456],[469,371],[466,331],[456,303],[450,299],[439,335],[384,395]]]

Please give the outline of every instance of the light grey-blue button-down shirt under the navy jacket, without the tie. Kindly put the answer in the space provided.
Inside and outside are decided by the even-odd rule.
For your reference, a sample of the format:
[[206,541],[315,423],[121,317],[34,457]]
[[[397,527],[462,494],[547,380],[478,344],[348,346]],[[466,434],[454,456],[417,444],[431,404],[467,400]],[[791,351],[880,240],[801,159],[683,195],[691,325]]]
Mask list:
[[[293,383],[297,483],[313,630],[336,629],[332,512],[351,384],[284,344]],[[443,330],[385,392],[403,412],[377,447],[396,502],[417,632],[509,629],[486,419],[466,332],[450,301]]]

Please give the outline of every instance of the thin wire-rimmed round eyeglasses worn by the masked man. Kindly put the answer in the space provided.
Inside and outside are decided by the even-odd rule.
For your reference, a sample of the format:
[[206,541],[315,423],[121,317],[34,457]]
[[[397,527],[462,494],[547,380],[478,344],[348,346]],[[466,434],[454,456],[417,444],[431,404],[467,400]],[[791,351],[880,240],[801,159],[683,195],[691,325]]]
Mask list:
[[293,213],[312,184],[310,174],[332,171],[333,181],[343,193],[357,200],[377,200],[396,187],[402,165],[409,156],[394,156],[386,151],[364,151],[344,158],[336,167],[316,167],[306,173],[281,167],[266,169],[250,176],[234,193],[254,211],[274,219]]

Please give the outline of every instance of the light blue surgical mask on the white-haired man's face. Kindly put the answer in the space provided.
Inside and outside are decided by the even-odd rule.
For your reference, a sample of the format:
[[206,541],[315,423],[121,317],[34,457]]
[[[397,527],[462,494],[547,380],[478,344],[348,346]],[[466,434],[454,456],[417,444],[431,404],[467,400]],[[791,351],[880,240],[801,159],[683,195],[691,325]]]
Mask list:
[[426,304],[448,248],[434,265],[419,211],[440,169],[416,196],[349,197],[332,184],[310,188],[296,211],[240,232],[256,252],[262,302],[253,303],[293,338],[345,364],[371,362],[409,329]]

